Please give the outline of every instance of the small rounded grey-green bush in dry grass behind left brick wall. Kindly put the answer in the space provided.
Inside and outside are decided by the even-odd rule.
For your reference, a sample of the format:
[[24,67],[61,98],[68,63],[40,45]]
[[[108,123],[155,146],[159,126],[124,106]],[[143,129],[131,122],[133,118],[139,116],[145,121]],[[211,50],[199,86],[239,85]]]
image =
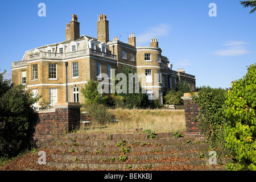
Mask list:
[[102,104],[88,105],[86,106],[86,110],[88,111],[92,119],[101,125],[112,122],[114,119],[114,116],[109,113],[107,107]]

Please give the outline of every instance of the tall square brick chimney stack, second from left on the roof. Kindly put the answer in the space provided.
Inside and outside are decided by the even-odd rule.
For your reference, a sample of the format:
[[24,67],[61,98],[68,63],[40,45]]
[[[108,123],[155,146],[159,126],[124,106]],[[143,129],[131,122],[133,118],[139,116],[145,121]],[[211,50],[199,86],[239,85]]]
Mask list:
[[106,15],[104,14],[98,16],[97,33],[98,40],[104,43],[109,42],[109,21],[106,20]]

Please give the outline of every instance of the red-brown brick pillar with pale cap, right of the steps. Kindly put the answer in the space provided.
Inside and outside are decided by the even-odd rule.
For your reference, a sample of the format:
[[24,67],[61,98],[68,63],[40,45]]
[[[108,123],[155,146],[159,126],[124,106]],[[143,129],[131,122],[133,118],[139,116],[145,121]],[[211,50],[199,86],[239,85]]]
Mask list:
[[193,98],[190,93],[184,93],[184,97],[181,98],[184,101],[185,109],[185,134],[195,137],[203,137],[203,132],[200,129],[199,122],[195,120],[195,118],[199,115],[199,105],[193,102]]

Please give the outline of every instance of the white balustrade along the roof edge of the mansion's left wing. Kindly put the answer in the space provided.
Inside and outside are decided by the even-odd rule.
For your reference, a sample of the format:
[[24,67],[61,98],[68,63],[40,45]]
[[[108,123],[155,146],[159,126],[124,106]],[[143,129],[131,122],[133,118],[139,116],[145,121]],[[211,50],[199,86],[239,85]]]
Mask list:
[[100,56],[107,59],[116,60],[117,56],[112,55],[110,53],[105,53],[101,51],[96,51],[93,49],[83,49],[79,51],[72,51],[66,53],[55,53],[55,52],[35,52],[31,54],[27,54],[25,60],[13,62],[12,68],[26,66],[27,61],[38,60],[38,59],[52,59],[52,60],[65,60],[70,59],[72,57],[80,57],[86,55],[94,55]]

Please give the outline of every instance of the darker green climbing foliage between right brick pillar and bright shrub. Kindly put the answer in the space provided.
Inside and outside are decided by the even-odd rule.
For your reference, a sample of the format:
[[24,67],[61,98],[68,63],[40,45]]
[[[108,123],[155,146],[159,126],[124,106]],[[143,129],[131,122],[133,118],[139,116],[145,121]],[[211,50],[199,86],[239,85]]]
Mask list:
[[197,117],[197,119],[201,130],[213,148],[224,146],[223,129],[224,125],[228,123],[222,113],[225,92],[225,89],[203,86],[198,93],[198,97],[193,96],[193,101],[200,106],[199,115],[201,117]]

